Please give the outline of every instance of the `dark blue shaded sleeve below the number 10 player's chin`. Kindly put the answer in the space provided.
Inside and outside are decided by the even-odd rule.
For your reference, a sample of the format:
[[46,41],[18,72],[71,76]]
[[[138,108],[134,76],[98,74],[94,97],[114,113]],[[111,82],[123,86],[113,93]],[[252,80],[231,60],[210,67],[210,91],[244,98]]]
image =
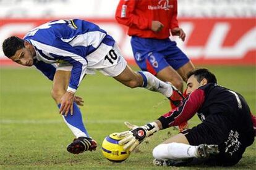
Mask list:
[[55,72],[56,72],[56,67],[54,67],[53,64],[45,63],[42,61],[34,60],[34,66],[41,71],[48,79],[53,81]]

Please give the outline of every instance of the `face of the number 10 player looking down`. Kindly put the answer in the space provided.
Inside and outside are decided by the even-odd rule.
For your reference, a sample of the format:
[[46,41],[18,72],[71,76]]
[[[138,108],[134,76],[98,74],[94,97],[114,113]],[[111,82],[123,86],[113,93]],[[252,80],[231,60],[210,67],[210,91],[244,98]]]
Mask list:
[[19,63],[20,65],[28,67],[33,65],[33,55],[27,47],[17,50],[10,59],[16,63]]

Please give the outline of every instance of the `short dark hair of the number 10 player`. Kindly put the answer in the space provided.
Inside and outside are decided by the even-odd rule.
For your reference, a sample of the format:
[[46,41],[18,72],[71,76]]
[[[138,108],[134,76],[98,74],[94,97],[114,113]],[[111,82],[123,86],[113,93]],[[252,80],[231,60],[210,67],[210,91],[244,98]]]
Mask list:
[[17,50],[23,47],[25,47],[24,40],[17,36],[11,36],[2,42],[2,51],[8,58],[12,57]]

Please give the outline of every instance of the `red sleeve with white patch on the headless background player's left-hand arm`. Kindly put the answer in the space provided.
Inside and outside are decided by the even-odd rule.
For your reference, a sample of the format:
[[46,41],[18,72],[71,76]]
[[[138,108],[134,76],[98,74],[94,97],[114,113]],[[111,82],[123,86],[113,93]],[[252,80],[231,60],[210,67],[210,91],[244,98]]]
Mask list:
[[151,28],[151,20],[134,14],[137,0],[120,0],[116,9],[116,20],[122,25],[142,30]]

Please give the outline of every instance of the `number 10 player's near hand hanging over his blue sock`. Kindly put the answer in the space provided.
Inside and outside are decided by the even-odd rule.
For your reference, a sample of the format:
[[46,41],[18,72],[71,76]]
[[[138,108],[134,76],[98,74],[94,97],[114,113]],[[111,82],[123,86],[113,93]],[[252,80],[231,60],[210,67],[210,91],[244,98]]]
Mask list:
[[74,94],[71,92],[66,92],[62,97],[61,97],[61,108],[59,108],[59,113],[61,115],[67,116],[67,113],[73,115],[73,103],[75,100]]

